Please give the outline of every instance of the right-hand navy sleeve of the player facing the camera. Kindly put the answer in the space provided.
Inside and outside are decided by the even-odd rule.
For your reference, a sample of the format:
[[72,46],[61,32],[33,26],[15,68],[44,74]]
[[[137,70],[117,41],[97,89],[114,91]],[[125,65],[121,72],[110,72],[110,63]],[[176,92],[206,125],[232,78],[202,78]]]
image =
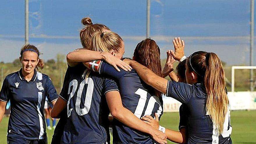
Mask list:
[[47,80],[46,80],[46,92],[47,92],[47,98],[49,102],[53,102],[54,100],[58,99],[57,91],[54,88],[54,85],[51,82],[51,79],[49,77],[47,77]]

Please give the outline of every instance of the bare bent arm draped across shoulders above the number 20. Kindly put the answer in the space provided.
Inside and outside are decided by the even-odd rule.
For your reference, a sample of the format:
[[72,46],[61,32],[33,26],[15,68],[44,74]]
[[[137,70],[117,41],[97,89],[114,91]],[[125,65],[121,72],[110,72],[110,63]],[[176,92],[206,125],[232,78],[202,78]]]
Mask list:
[[79,62],[89,62],[94,60],[105,60],[118,71],[120,71],[118,67],[125,71],[131,70],[129,65],[116,58],[109,52],[78,49],[67,54],[67,64],[71,67],[76,66]]

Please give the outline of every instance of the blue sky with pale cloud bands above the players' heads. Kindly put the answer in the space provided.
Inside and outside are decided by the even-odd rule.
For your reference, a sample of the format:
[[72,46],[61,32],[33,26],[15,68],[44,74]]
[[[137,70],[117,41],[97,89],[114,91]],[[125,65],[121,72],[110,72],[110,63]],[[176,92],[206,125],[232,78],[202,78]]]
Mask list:
[[[146,0],[30,0],[29,13],[29,42],[45,60],[81,47],[83,17],[118,33],[125,41],[126,57],[146,33]],[[19,57],[24,17],[24,0],[1,0],[0,61]],[[157,41],[162,58],[173,49],[172,39],[180,36],[186,55],[212,51],[228,65],[249,64],[250,0],[151,0],[150,18],[150,37]]]

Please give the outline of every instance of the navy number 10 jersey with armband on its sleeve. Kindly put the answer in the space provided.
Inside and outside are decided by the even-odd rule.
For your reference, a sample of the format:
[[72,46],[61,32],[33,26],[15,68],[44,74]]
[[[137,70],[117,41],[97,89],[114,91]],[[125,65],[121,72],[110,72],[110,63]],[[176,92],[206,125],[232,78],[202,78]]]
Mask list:
[[[163,100],[155,95],[154,88],[145,84],[135,72],[118,72],[111,65],[102,62],[99,68],[100,74],[111,76],[118,80],[119,90],[122,98],[122,104],[129,109],[136,117],[141,118],[144,115],[157,113],[159,118],[163,114]],[[153,143],[154,140],[145,133],[131,129],[119,122],[113,120],[113,143]]]

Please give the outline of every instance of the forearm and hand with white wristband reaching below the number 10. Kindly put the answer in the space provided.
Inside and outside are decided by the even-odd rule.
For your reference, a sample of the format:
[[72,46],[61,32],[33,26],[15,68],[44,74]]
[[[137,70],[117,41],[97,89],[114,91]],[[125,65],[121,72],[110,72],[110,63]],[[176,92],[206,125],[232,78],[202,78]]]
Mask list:
[[[158,116],[155,113],[155,119],[152,118],[150,115],[146,115],[143,118],[141,118],[145,123],[148,125],[154,127],[155,129],[159,129],[159,120]],[[175,143],[186,143],[186,128],[180,129],[180,131],[174,131],[171,129],[165,129],[164,134],[166,134],[167,139],[175,142]]]

